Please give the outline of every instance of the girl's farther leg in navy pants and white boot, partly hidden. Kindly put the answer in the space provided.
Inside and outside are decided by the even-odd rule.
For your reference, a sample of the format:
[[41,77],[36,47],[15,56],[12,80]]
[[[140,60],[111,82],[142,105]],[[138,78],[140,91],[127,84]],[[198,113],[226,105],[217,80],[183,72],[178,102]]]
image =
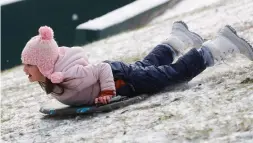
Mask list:
[[156,46],[143,61],[135,64],[138,66],[169,65],[174,58],[183,53],[189,47],[200,47],[203,39],[196,33],[189,31],[183,21],[174,22],[169,38]]

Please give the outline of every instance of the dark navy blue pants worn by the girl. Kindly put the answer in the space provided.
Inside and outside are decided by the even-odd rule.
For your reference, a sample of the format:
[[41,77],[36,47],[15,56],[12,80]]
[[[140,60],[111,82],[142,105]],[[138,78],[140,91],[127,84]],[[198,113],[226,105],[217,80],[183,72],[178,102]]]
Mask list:
[[155,93],[177,83],[188,82],[203,70],[206,64],[202,54],[193,48],[173,62],[170,45],[157,45],[142,61],[125,64],[120,61],[109,62],[114,78],[127,83],[117,94],[135,96]]

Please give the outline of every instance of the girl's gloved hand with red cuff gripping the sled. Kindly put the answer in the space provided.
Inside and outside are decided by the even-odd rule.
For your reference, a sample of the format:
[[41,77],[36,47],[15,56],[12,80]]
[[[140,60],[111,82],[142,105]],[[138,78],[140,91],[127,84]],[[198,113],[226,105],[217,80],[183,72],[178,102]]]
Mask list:
[[108,104],[113,96],[115,96],[114,90],[104,90],[100,92],[99,96],[95,99],[95,104],[102,103]]

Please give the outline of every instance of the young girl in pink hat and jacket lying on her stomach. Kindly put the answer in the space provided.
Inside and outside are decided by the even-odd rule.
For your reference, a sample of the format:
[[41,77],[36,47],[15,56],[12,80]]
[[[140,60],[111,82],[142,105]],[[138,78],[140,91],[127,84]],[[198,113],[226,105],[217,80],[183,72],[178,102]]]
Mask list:
[[[167,86],[190,81],[231,53],[253,60],[253,49],[231,26],[204,42],[182,22],[174,22],[167,40],[142,61],[125,64],[105,61],[90,64],[82,48],[58,47],[50,27],[40,27],[22,51],[24,72],[38,81],[47,94],[67,105],[109,103],[112,96],[155,93]],[[172,63],[185,49],[192,49]],[[199,49],[196,49],[200,47]]]

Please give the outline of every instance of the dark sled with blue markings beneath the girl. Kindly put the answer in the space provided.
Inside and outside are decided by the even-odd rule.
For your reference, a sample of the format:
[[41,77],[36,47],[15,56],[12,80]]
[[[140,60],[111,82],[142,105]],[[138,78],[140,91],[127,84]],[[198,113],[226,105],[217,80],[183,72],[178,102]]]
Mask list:
[[40,112],[50,116],[63,116],[63,115],[80,115],[92,114],[100,112],[110,112],[146,99],[148,95],[139,95],[128,98],[126,96],[117,95],[113,97],[109,104],[93,105],[93,106],[68,106],[60,102],[49,103],[40,108]]

